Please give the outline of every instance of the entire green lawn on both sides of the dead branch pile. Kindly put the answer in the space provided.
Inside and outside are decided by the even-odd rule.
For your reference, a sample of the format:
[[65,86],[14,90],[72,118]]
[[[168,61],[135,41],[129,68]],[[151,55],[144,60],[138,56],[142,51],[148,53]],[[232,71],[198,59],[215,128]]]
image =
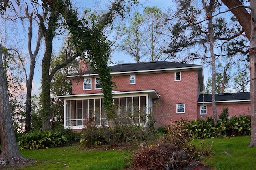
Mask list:
[[[202,140],[194,140],[200,143]],[[205,139],[212,144],[215,155],[205,158],[202,163],[214,170],[254,170],[256,169],[256,148],[248,148],[250,136],[224,139]],[[213,143],[212,143],[213,141]],[[35,160],[23,170],[121,170],[125,168],[122,150],[83,150],[80,146],[70,146],[39,150],[21,150],[21,155]]]

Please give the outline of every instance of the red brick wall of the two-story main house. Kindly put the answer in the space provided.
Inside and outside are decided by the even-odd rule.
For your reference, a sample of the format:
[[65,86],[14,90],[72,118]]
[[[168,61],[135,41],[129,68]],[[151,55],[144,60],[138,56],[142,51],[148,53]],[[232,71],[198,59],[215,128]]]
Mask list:
[[[180,117],[192,120],[197,117],[198,99],[198,71],[188,70],[181,72],[181,80],[174,81],[174,72],[162,72],[151,74],[135,74],[136,84],[129,84],[130,75],[114,76],[118,91],[152,90],[155,89],[160,99],[154,103],[154,116],[158,126],[169,125],[170,120],[178,120]],[[77,83],[73,80],[73,94],[99,93],[94,89],[94,77],[92,77],[92,90],[83,90],[83,80]],[[176,104],[185,104],[185,113],[176,113]]]

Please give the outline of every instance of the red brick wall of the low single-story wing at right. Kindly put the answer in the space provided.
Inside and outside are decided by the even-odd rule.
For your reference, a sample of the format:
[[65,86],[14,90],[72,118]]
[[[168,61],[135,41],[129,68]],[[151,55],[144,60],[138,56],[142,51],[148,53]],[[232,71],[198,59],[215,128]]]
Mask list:
[[[205,104],[206,105],[206,104]],[[206,105],[207,109],[206,109],[206,115],[200,115],[200,105],[198,105],[198,112],[197,112],[197,118],[200,119],[206,119],[206,117],[213,117],[213,111],[212,111],[212,105],[211,104],[207,104]],[[216,103],[216,107],[217,107],[217,114],[218,116],[220,115],[220,113],[222,112],[223,108],[228,108],[228,113],[229,113],[229,117],[232,117],[234,115],[238,116],[238,115],[250,115],[250,102],[247,103],[222,103],[222,104],[218,104]],[[218,117],[219,119],[219,117]]]

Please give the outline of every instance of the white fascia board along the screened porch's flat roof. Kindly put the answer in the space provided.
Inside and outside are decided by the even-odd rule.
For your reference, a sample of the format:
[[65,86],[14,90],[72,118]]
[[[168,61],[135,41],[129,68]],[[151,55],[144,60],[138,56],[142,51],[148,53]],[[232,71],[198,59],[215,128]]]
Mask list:
[[[156,90],[139,90],[139,91],[127,91],[127,92],[113,92],[113,95],[120,95],[120,94],[138,94],[138,93],[150,93],[154,95],[155,98],[160,98],[160,95],[156,92]],[[90,93],[90,94],[70,94],[70,95],[63,95],[63,96],[56,96],[56,98],[77,98],[77,97],[92,97],[92,96],[103,96],[103,93]]]

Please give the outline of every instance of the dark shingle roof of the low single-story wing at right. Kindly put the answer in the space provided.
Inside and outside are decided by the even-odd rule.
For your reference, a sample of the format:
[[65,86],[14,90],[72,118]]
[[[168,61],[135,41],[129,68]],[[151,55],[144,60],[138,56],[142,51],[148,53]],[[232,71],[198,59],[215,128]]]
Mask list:
[[[250,92],[216,94],[215,101],[250,100]],[[212,94],[200,94],[198,102],[211,102]]]

